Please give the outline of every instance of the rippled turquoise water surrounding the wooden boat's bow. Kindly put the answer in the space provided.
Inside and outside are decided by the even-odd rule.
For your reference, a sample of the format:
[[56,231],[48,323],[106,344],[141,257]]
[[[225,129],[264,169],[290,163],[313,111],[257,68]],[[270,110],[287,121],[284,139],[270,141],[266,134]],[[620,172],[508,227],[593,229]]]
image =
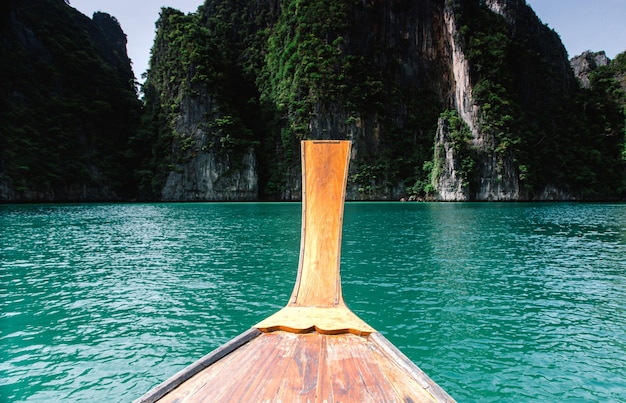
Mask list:
[[[0,205],[0,401],[130,401],[286,304],[300,204]],[[626,402],[626,204],[347,203],[344,297],[460,402]]]

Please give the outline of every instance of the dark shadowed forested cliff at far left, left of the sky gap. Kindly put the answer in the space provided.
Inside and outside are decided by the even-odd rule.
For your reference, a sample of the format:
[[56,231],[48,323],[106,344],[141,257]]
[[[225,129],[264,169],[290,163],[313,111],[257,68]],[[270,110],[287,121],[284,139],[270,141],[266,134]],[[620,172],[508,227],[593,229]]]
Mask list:
[[3,7],[0,183],[17,200],[132,197],[140,103],[118,22],[56,0]]

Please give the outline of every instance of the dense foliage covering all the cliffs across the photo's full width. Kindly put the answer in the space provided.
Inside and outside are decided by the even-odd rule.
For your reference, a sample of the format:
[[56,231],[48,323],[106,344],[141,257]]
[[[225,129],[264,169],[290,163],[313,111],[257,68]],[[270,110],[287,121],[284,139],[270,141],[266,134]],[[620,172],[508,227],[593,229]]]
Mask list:
[[[450,44],[433,22],[444,4],[471,66],[481,149],[451,99]],[[159,199],[198,155],[227,156],[236,170],[250,149],[260,197],[286,198],[304,138],[355,141],[359,197],[428,197],[441,173],[438,121],[469,189],[495,156],[498,170],[514,162],[524,197],[547,186],[626,195],[625,54],[580,88],[558,35],[529,8],[514,30],[481,0],[164,8],[142,105],[114,18],[90,20],[60,0],[1,7],[0,190],[17,199]]]

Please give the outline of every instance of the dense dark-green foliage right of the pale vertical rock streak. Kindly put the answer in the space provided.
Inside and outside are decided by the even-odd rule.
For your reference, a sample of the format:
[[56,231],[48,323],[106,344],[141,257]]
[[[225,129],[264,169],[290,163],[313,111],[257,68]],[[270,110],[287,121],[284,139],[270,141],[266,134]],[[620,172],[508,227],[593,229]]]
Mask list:
[[[518,24],[536,24],[527,13]],[[493,151],[514,156],[523,190],[552,185],[584,198],[626,192],[623,88],[613,67],[592,73],[592,89],[560,73],[564,49],[541,49],[532,29],[510,34],[508,24],[480,2],[468,1],[459,18],[473,71],[481,129],[494,135]],[[557,36],[543,27],[543,35]],[[621,106],[620,106],[621,105]]]

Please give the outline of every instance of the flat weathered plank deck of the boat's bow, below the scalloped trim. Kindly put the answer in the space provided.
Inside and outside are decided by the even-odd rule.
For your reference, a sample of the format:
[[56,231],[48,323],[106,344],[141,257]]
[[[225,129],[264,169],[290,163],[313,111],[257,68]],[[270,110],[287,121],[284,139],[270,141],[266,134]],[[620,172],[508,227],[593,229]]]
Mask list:
[[454,401],[413,364],[398,365],[381,337],[262,333],[160,401]]

